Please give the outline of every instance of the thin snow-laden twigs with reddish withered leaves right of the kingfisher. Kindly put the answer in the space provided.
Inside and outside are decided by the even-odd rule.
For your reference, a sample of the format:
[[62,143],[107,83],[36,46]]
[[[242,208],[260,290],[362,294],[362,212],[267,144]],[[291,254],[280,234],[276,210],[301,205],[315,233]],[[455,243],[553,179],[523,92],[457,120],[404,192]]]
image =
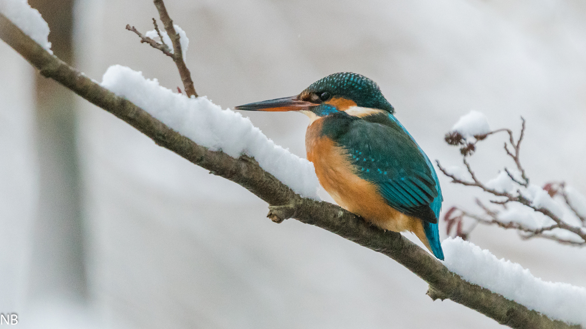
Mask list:
[[[476,224],[481,223],[516,229],[523,239],[541,237],[561,244],[586,245],[586,197],[563,182],[547,183],[543,187],[529,183],[529,177],[519,159],[525,131],[525,120],[521,119],[521,132],[517,140],[510,129],[489,131],[485,116],[478,112],[463,116],[455,128],[447,133],[446,142],[461,147],[465,169],[457,166],[442,167],[437,162],[440,170],[452,179],[452,183],[480,187],[492,194],[496,199],[490,200],[490,203],[497,206],[489,207],[477,198],[476,204],[482,214],[459,207],[450,208],[444,215],[444,221],[448,223],[447,234],[455,227],[456,236],[466,239]],[[478,179],[467,158],[473,155],[478,142],[498,132],[507,132],[509,135],[504,149],[515,162],[515,169],[505,167],[498,176],[484,183]],[[473,221],[468,229],[464,229],[465,218]]]

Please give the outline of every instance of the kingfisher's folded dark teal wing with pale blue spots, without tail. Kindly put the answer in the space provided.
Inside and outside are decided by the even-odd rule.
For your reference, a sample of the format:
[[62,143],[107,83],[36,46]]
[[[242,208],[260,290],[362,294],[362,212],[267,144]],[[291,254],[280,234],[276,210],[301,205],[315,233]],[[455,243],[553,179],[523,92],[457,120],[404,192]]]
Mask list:
[[381,196],[401,213],[437,223],[430,204],[435,181],[417,144],[398,126],[353,120],[336,142],[352,156],[357,174],[379,187]]

